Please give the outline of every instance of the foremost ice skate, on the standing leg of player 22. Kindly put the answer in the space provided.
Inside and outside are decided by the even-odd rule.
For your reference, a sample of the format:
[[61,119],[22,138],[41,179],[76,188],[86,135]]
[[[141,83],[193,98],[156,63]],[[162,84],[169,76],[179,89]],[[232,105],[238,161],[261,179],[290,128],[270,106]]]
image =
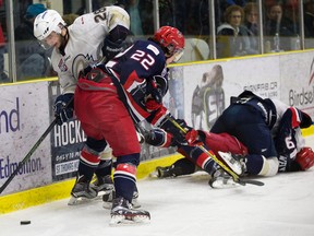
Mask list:
[[132,204],[124,198],[116,198],[111,208],[111,221],[110,225],[123,225],[123,224],[144,224],[149,223],[150,214],[144,210],[134,210]]

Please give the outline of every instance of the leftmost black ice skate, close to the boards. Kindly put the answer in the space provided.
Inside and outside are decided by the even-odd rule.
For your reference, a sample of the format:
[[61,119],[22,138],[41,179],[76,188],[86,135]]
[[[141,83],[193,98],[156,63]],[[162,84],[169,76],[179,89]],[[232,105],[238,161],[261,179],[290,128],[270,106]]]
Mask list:
[[89,187],[89,181],[86,180],[85,176],[78,176],[71,191],[71,199],[68,204],[75,205],[86,200],[95,199],[96,197],[97,191]]

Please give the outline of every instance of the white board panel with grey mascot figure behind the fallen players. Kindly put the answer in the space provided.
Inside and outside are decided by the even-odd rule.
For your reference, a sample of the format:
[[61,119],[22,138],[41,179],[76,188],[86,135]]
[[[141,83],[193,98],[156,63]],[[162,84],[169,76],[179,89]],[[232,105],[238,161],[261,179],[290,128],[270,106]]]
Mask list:
[[[184,118],[192,125],[192,97],[196,86],[215,90],[215,85],[204,84],[204,73],[212,73],[214,67],[222,69],[225,107],[230,104],[230,97],[239,95],[244,90],[251,90],[263,97],[279,98],[280,71],[279,58],[275,56],[263,58],[240,59],[233,61],[217,61],[188,66],[184,68]],[[213,75],[214,78],[214,75]],[[215,80],[215,79],[210,80]],[[204,99],[203,96],[200,99]],[[205,109],[205,108],[204,108]],[[215,109],[215,108],[214,108]],[[215,116],[213,116],[213,119]],[[204,127],[203,127],[204,128]],[[209,127],[206,127],[208,129]]]

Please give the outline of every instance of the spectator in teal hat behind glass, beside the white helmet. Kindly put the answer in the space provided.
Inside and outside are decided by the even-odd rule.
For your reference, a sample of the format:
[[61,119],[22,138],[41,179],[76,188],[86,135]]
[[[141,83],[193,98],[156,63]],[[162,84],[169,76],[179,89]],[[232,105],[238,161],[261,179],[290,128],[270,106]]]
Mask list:
[[46,8],[41,3],[28,5],[23,22],[15,28],[17,80],[43,78],[49,67],[47,52],[33,35],[35,17]]

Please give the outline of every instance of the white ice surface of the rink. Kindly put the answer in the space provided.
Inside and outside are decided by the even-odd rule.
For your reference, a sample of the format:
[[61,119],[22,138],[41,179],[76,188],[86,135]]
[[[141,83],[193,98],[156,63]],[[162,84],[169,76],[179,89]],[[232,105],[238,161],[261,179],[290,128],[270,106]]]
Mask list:
[[[314,146],[314,137],[306,138]],[[147,225],[109,226],[101,200],[68,200],[0,215],[1,236],[313,236],[314,168],[269,178],[264,187],[212,189],[205,173],[137,182]],[[32,221],[20,225],[21,221]]]

